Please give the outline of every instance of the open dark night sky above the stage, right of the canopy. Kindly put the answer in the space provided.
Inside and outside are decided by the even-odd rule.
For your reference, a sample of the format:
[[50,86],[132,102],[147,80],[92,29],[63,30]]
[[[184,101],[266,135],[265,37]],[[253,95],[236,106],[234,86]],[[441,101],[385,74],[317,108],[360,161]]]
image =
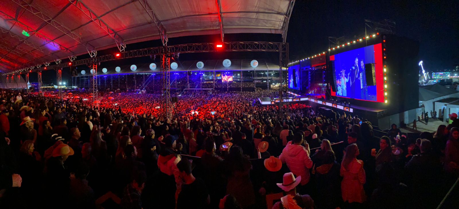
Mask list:
[[364,19],[396,23],[397,35],[420,42],[420,58],[429,71],[459,64],[458,0],[297,0],[287,41],[297,60],[328,50],[328,37],[365,33]]

